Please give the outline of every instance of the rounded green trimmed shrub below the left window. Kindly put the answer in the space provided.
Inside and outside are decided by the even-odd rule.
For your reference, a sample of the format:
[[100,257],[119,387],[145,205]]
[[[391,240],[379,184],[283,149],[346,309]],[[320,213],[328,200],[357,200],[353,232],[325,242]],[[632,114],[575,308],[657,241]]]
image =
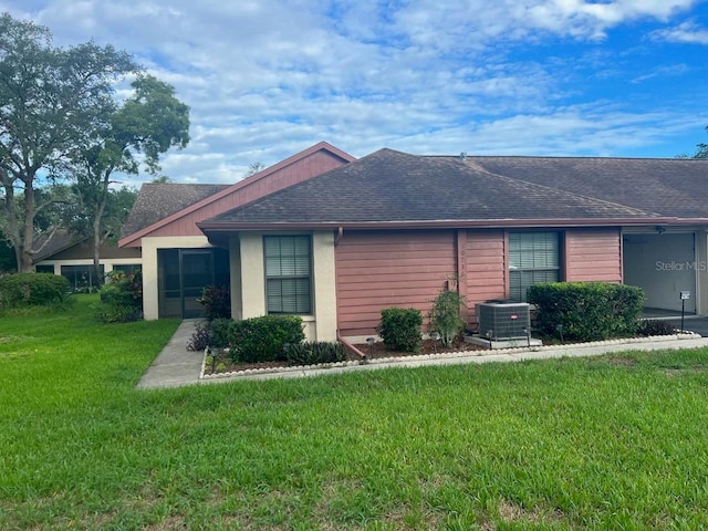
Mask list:
[[233,321],[229,327],[230,355],[237,363],[285,361],[283,345],[305,339],[302,319],[296,315],[264,315]]

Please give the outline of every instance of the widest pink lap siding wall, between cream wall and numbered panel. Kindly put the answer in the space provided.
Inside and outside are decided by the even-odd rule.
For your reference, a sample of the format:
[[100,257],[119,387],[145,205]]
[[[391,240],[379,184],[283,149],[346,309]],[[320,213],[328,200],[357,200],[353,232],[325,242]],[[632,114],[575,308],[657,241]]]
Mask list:
[[455,274],[455,233],[345,231],[335,256],[340,331],[345,336],[371,335],[385,308],[428,313]]

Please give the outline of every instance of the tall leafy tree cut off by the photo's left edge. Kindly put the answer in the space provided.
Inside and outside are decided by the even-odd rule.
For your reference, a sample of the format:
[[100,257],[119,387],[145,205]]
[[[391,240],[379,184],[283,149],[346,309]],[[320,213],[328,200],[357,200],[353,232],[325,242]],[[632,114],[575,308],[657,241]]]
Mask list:
[[34,220],[49,205],[38,189],[66,176],[115,110],[115,81],[136,70],[113,46],[54,48],[46,28],[0,15],[0,206],[19,271],[32,268]]

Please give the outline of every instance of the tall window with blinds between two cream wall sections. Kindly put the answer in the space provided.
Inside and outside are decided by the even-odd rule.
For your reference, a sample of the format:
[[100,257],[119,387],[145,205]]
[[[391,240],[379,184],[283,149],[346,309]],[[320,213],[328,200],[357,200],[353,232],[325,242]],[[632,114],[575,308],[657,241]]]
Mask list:
[[273,313],[312,313],[310,236],[266,236],[266,306]]

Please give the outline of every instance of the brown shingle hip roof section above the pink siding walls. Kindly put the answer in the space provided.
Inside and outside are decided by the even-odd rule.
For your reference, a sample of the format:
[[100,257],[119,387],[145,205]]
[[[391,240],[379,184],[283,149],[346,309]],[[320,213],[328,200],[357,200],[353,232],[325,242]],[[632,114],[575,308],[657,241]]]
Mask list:
[[[565,164],[565,159],[554,160]],[[539,176],[538,183],[532,183],[493,169],[475,157],[427,157],[381,149],[199,225],[226,228],[232,223],[611,220],[655,216],[653,209],[623,205],[612,197],[548,186]],[[602,170],[602,163],[593,168],[593,173]],[[560,175],[563,169],[545,173]]]

